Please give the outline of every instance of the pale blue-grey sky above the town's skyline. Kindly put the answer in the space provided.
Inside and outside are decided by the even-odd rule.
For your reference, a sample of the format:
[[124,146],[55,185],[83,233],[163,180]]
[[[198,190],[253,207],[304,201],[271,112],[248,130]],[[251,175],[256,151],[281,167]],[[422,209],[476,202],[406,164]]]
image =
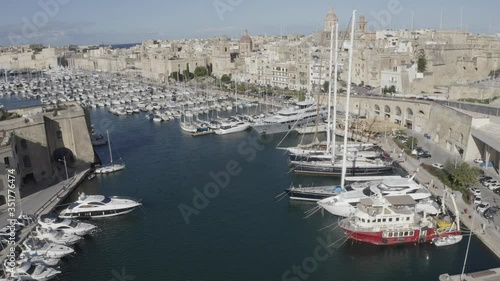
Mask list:
[[[371,30],[459,29],[500,33],[497,0],[2,0],[0,45],[90,45],[227,35],[311,34],[330,7],[347,26],[352,10]],[[461,17],[461,14],[463,15]],[[413,15],[413,17],[412,17]]]

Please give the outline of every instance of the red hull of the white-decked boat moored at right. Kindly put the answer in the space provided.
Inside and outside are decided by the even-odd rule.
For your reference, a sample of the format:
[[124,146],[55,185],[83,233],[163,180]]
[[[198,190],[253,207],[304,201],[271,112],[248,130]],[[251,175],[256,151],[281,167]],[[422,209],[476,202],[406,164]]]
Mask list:
[[[396,245],[396,244],[404,244],[404,243],[426,243],[432,241],[432,239],[438,237],[439,235],[435,232],[434,228],[429,228],[427,229],[427,233],[423,235],[422,237],[420,236],[420,229],[413,229],[413,235],[412,236],[404,236],[404,237],[383,237],[383,231],[377,231],[377,232],[361,232],[361,231],[352,231],[349,229],[343,228],[345,234],[351,239],[365,242],[365,243],[370,243],[370,244],[375,244],[375,245]],[[409,230],[406,230],[407,232],[410,232]],[[450,236],[450,235],[459,235],[460,231],[451,231],[451,232],[445,232],[441,234],[441,237],[443,236]]]

